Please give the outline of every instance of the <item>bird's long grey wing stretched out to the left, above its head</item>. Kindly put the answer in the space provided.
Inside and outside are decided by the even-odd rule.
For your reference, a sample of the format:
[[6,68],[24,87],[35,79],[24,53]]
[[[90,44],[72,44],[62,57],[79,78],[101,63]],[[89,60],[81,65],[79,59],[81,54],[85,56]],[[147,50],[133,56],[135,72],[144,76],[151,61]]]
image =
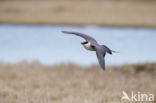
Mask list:
[[80,36],[82,38],[84,38],[86,41],[93,41],[93,42],[97,42],[94,38],[86,35],[86,34],[82,34],[82,33],[78,33],[78,32],[70,32],[70,31],[62,31],[62,33],[66,33],[66,34],[74,34],[77,36]]

